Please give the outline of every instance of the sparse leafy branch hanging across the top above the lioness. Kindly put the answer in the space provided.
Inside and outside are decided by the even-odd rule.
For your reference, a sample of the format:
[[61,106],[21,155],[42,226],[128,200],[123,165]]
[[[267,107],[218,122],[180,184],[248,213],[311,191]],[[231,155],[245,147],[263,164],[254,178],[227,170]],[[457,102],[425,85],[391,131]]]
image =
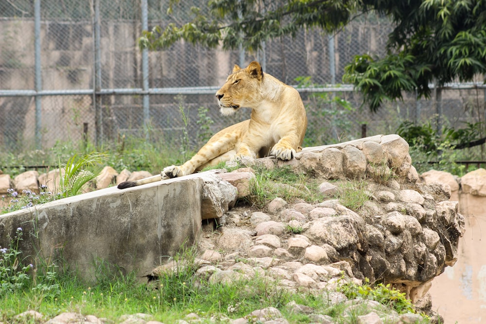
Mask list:
[[[169,12],[178,0],[171,0]],[[261,42],[283,35],[295,35],[299,28],[320,27],[333,31],[356,13],[356,0],[208,0],[205,7],[192,7],[192,20],[177,26],[156,26],[144,32],[140,45],[167,48],[180,39],[223,49],[255,50]]]

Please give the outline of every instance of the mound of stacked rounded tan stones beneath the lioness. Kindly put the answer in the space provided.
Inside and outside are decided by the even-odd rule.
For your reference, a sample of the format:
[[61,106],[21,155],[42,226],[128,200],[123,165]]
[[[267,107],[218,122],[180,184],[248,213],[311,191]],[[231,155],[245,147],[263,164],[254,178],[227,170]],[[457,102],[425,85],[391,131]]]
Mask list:
[[[427,292],[430,281],[457,260],[458,239],[465,224],[458,203],[448,200],[450,186],[417,183],[418,175],[410,161],[408,144],[396,135],[308,148],[289,162],[271,158],[244,161],[267,168],[290,165],[297,172],[322,179],[365,178],[370,174],[373,178],[377,168],[382,168],[378,175],[393,176],[383,183],[370,181],[367,191],[372,200],[366,203],[362,215],[335,199],[292,206],[276,199],[267,206],[268,213],[259,212],[245,220],[253,225],[249,229],[241,229],[242,216],[237,215],[236,221],[230,221],[236,228],[223,226],[218,243],[212,247],[232,251],[225,256],[229,263],[236,254],[255,259],[258,267],[284,273],[285,280],[292,282],[290,286],[323,288],[329,284],[329,273],[336,273],[329,271],[329,266],[336,266],[350,277],[401,285],[417,301]],[[326,192],[335,191],[333,187],[326,181],[320,186]],[[257,224],[257,220],[261,222]],[[288,237],[288,228],[300,228],[301,235]],[[252,239],[253,235],[257,239]],[[289,271],[288,262],[300,262],[293,263],[298,269],[318,265],[321,274],[309,276],[307,270],[293,268]],[[231,270],[212,269],[215,273],[223,271],[223,277],[234,276]]]

